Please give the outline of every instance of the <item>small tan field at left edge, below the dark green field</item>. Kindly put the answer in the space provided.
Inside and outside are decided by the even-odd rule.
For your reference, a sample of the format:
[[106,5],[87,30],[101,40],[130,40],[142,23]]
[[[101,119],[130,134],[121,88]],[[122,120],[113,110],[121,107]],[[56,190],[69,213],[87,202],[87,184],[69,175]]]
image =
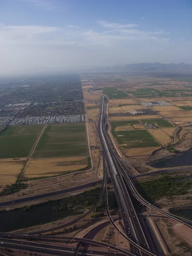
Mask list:
[[5,185],[15,183],[17,175],[22,170],[26,159],[0,159],[0,191]]

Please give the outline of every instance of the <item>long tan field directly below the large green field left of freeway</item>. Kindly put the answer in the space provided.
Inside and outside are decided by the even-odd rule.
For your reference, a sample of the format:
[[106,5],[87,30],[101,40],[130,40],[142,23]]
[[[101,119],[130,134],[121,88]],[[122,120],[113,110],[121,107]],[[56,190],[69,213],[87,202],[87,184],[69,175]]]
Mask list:
[[87,167],[87,157],[64,157],[30,160],[24,180],[64,175]]

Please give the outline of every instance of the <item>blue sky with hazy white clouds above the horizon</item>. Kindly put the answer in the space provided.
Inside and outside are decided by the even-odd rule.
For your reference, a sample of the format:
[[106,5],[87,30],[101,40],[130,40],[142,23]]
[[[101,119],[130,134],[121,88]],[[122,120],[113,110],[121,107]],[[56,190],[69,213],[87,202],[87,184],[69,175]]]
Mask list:
[[192,64],[192,0],[0,0],[0,75]]

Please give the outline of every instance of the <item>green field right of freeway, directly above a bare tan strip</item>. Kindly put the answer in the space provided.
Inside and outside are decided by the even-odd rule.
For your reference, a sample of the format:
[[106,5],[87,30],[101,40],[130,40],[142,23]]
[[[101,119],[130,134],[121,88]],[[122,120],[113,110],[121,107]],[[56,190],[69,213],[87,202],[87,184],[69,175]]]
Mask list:
[[112,134],[122,148],[158,147],[160,145],[147,130],[112,131]]

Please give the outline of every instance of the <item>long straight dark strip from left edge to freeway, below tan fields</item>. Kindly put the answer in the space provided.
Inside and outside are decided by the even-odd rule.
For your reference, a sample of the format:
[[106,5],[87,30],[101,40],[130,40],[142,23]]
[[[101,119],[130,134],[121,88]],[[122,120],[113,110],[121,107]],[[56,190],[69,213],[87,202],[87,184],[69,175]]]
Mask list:
[[64,193],[68,193],[68,192],[73,192],[76,190],[80,190],[80,189],[85,189],[88,188],[90,186],[94,186],[96,184],[101,184],[102,180],[97,180],[97,181],[93,181],[81,186],[77,186],[77,187],[73,187],[70,189],[63,189],[63,190],[59,190],[59,191],[55,191],[55,192],[49,192],[46,194],[42,194],[42,195],[34,195],[34,196],[30,196],[28,198],[21,198],[21,199],[17,199],[17,200],[13,200],[13,201],[7,201],[7,202],[3,202],[0,203],[0,207],[1,206],[7,206],[7,205],[12,205],[12,204],[19,204],[19,203],[23,203],[23,202],[28,202],[28,201],[32,201],[32,200],[36,200],[36,199],[40,199],[40,198],[46,198],[52,195],[60,195],[60,194],[64,194]]

